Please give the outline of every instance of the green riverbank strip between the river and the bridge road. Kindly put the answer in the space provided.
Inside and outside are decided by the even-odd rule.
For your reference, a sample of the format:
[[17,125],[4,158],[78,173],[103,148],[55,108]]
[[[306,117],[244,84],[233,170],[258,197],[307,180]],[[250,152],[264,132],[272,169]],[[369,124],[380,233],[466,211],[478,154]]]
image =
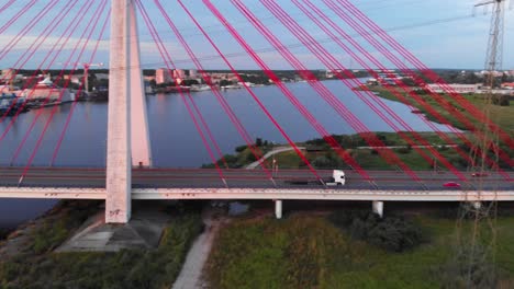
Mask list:
[[[426,140],[423,144],[411,144],[407,139],[416,139],[414,134],[421,136]],[[447,134],[448,140],[443,140],[436,132],[377,132],[377,139],[382,143],[370,147],[365,140],[371,136],[370,134],[364,135],[342,135],[333,136],[334,139],[344,148],[351,158],[365,170],[399,170],[400,161],[409,165],[412,170],[437,170],[449,171],[447,166],[442,163],[442,158],[446,159],[454,167],[458,170],[467,170],[469,167],[469,158],[471,148],[465,146],[455,134]],[[268,142],[256,143],[257,149],[262,151],[262,163],[268,167],[272,165],[279,169],[303,169],[305,167],[304,161],[298,153],[289,147],[280,144],[269,144]],[[267,143],[266,146],[262,143]],[[339,154],[337,154],[324,139],[312,139],[305,142],[295,143],[302,149],[309,162],[320,170],[331,169],[351,169],[345,163]],[[387,161],[384,153],[392,151],[398,160]],[[506,150],[507,151],[507,150]],[[514,157],[514,151],[510,151],[511,157]],[[436,157],[439,154],[440,158]],[[272,161],[270,160],[272,155]],[[386,154],[388,155],[388,154]],[[490,155],[495,159],[494,155]],[[255,161],[252,150],[246,147],[238,147],[235,154],[225,155],[225,161],[230,167],[252,167],[259,169],[259,164]],[[223,167],[224,162],[217,161],[217,164]],[[204,165],[204,167],[212,167],[213,164]],[[504,161],[500,160],[500,166],[504,170],[512,170],[512,167]]]

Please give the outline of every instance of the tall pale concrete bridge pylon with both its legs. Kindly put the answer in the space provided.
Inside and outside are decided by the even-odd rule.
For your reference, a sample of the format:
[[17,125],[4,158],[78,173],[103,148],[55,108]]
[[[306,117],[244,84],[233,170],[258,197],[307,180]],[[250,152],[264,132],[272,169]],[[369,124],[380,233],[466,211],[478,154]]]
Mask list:
[[105,222],[131,219],[132,166],[152,166],[133,0],[111,1]]

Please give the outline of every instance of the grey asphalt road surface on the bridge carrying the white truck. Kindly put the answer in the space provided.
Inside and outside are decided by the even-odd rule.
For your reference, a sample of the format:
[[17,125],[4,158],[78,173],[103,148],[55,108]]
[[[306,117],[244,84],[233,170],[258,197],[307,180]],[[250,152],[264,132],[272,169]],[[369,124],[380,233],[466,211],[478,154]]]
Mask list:
[[[22,167],[0,169],[0,186],[11,187],[105,187],[104,169],[72,167],[32,167],[23,177]],[[418,171],[420,181],[412,180],[399,171],[367,171],[371,182],[365,180],[355,171],[346,172],[346,185],[331,187],[336,189],[383,189],[383,190],[442,190],[459,189],[444,187],[447,182],[461,184],[462,190],[512,190],[514,183],[512,172],[500,175],[489,173],[488,176],[476,177],[469,172],[462,172],[467,177],[462,182],[450,172]],[[321,177],[328,178],[331,170],[317,171]],[[132,173],[134,188],[302,188],[319,189],[315,176],[308,170],[281,170],[270,175],[262,170],[222,170],[213,169],[135,169]],[[505,177],[507,175],[509,177]],[[291,182],[294,181],[294,182]],[[310,184],[299,185],[302,181]],[[293,183],[293,184],[291,184]]]

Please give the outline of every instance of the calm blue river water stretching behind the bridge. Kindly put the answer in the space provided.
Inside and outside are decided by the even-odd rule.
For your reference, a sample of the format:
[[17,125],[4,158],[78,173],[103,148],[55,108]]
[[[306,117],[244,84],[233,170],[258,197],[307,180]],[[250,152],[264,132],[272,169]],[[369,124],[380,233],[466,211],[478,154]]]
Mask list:
[[[339,81],[325,81],[324,83],[369,129],[394,131]],[[289,88],[324,125],[328,132],[355,132],[328,104],[310,89],[308,83],[292,83],[289,84]],[[254,91],[294,141],[320,137],[277,86],[255,88]],[[192,95],[223,153],[232,153],[236,146],[245,143],[212,92],[195,92]],[[223,92],[223,95],[254,139],[260,137],[270,141],[287,142],[245,90],[228,90]],[[431,130],[420,118],[420,115],[411,113],[410,107],[387,100],[382,101],[406,120],[413,129],[418,131]],[[152,148],[156,166],[198,167],[203,163],[212,162],[179,94],[150,95],[147,96],[147,103]],[[34,158],[33,165],[49,164],[70,107],[69,104],[58,107],[58,112],[51,120],[51,126]],[[32,130],[33,132],[29,135],[19,157],[13,160],[12,157],[15,154],[19,143],[23,140],[38,112],[41,112],[41,116]],[[20,116],[4,139],[0,140],[1,165],[8,165],[11,162],[16,165],[26,164],[41,131],[51,117],[51,112],[52,108],[45,108]],[[107,103],[79,103],[76,106],[55,165],[104,166],[107,112]],[[9,126],[9,120],[8,118],[0,124],[1,134]],[[443,129],[443,126],[436,126]],[[54,203],[1,199],[0,227],[8,223],[18,223],[41,215],[52,204]]]

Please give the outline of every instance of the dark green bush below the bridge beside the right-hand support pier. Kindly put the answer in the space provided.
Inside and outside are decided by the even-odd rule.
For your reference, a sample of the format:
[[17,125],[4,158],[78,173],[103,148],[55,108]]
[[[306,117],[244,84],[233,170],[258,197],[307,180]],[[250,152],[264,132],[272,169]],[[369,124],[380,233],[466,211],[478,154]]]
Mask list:
[[353,238],[391,252],[403,252],[423,241],[422,230],[402,217],[380,218],[367,211],[339,211],[329,220]]

